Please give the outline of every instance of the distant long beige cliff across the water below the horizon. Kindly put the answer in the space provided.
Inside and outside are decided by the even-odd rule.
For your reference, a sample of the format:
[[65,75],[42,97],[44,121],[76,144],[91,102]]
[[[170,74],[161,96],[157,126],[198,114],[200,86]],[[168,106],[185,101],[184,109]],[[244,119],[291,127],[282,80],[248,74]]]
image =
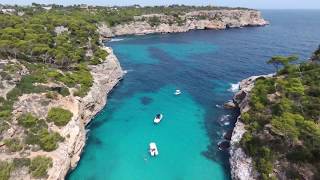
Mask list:
[[[152,17],[159,19],[157,25],[150,24],[149,20]],[[181,21],[176,23],[173,16],[163,14],[138,16],[134,19],[133,22],[113,27],[101,24],[99,32],[103,37],[110,38],[121,35],[176,33],[195,29],[226,29],[268,24],[259,11],[248,9],[193,11],[179,16],[179,20],[184,21],[183,23]]]

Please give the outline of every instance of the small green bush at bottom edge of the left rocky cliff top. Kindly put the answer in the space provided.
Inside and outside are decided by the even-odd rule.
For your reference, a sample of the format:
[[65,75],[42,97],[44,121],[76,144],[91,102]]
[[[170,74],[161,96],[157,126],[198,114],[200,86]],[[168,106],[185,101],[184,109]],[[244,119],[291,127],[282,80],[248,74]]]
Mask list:
[[43,178],[47,176],[48,169],[52,167],[52,159],[45,156],[37,156],[31,160],[30,172],[35,178]]

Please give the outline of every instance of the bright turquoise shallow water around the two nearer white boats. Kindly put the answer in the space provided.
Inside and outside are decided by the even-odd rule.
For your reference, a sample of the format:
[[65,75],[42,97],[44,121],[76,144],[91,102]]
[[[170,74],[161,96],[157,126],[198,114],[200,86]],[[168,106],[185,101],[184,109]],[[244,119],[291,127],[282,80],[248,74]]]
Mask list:
[[[201,121],[203,109],[187,93],[175,97],[173,90],[166,86],[154,93],[137,93],[117,107],[110,103],[114,112],[96,119],[110,119],[95,130],[94,136],[104,137],[101,145],[82,160],[101,162],[103,167],[95,168],[95,178],[196,179],[200,173],[202,179],[223,179],[222,167],[200,155],[209,143]],[[155,112],[164,115],[159,125],[153,124]],[[149,156],[149,142],[157,143],[158,157]],[[86,171],[81,177],[92,174]]]

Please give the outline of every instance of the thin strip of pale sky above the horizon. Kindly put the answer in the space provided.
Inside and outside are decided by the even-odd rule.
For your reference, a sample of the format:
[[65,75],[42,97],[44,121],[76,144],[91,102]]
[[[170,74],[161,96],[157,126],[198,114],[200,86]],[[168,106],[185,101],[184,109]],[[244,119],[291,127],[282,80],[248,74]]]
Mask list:
[[0,4],[89,4],[89,5],[216,5],[256,9],[320,9],[320,0],[0,0]]

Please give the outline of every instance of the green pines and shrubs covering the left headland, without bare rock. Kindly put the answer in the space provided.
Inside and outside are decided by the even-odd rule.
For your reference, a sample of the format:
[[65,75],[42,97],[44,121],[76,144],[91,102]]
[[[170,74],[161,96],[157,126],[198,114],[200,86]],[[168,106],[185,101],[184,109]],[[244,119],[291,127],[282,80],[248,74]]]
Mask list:
[[[43,6],[36,3],[24,7],[5,5],[4,8],[17,11],[11,14],[0,13],[0,59],[12,61],[5,65],[0,76],[2,80],[16,84],[5,98],[0,97],[0,140],[11,152],[24,153],[25,150],[37,150],[38,147],[44,151],[53,151],[63,141],[59,133],[48,129],[47,122],[64,126],[73,116],[70,111],[52,108],[46,120],[25,113],[16,119],[16,124],[12,118],[13,105],[22,95],[31,93],[43,93],[48,99],[56,99],[59,94],[68,96],[70,93],[79,97],[86,96],[93,85],[89,65],[100,64],[108,56],[107,51],[101,48],[97,32],[100,23],[114,26],[145,20],[157,26],[161,23],[159,17],[138,20],[134,16],[165,14],[170,18],[164,23],[183,25],[186,22],[183,15],[187,12],[226,9],[179,5],[88,8],[52,5],[51,10],[45,10]],[[4,88],[4,85],[0,82],[0,88]],[[310,89],[310,93],[316,92],[316,87]],[[42,105],[46,106],[48,102]],[[316,111],[310,113],[315,115]],[[19,131],[14,137],[3,139],[7,137],[3,133],[12,124],[19,126]],[[10,173],[21,167],[29,167],[35,178],[45,177],[51,166],[52,160],[46,157],[0,162],[0,179],[9,179]]]

